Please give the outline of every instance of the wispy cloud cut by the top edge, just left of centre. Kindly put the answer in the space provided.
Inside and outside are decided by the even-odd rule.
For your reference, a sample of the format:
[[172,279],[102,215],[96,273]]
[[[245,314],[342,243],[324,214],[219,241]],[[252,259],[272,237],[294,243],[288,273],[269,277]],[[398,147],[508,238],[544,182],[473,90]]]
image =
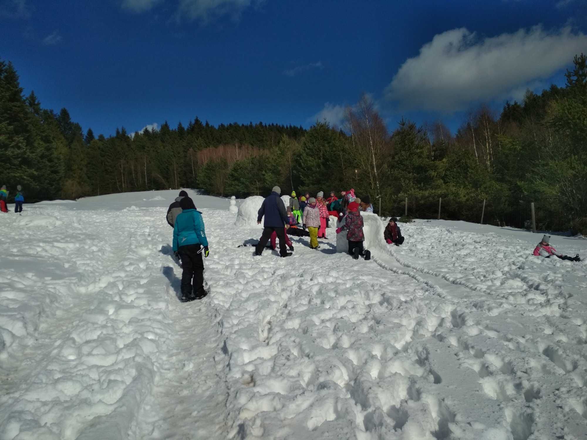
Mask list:
[[208,22],[222,15],[238,19],[242,11],[250,6],[258,6],[265,0],[180,0],[176,18],[187,18]]

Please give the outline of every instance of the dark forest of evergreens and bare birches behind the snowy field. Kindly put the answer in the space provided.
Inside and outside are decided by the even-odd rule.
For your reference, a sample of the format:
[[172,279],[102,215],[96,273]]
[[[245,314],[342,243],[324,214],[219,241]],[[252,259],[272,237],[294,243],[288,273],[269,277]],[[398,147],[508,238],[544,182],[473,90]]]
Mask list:
[[279,124],[184,127],[95,137],[66,109],[25,97],[11,63],[0,60],[0,184],[27,189],[28,201],[180,187],[212,195],[339,192],[355,188],[382,214],[437,215],[525,226],[529,204],[542,229],[587,232],[587,66],[581,54],[566,84],[528,91],[500,114],[482,105],[456,133],[442,121],[387,128],[369,97],[346,111],[342,127]]

